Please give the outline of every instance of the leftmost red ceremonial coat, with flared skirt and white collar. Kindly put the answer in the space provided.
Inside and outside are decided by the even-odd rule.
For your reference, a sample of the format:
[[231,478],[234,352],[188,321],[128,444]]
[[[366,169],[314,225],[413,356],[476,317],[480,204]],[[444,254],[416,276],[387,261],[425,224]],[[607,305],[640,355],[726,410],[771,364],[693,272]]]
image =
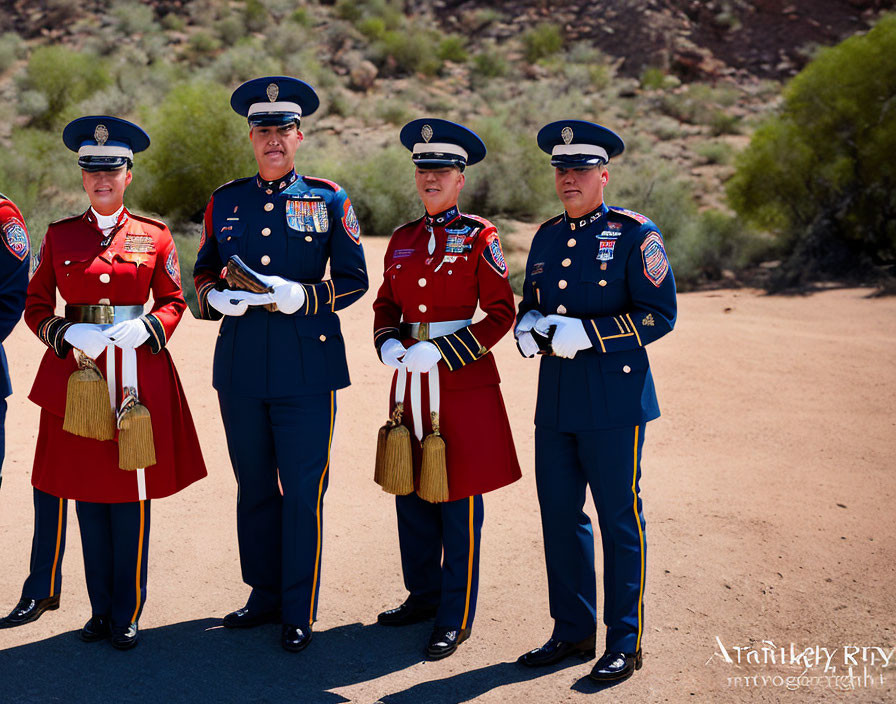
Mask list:
[[[62,430],[69,375],[77,363],[63,339],[71,325],[55,314],[56,291],[72,305],[143,305],[149,339],[137,348],[140,402],[150,412],[156,464],[146,468],[147,498],[168,496],[206,475],[180,379],[165,345],[186,309],[177,250],[157,220],[122,211],[108,237],[91,210],[50,225],[28,285],[25,322],[49,349],[29,398],[40,406],[41,428],[32,484],[62,498],[101,503],[137,500],[134,472],[118,468],[117,440],[101,442]],[[121,350],[116,348],[117,404]],[[96,360],[106,375],[106,353]]]

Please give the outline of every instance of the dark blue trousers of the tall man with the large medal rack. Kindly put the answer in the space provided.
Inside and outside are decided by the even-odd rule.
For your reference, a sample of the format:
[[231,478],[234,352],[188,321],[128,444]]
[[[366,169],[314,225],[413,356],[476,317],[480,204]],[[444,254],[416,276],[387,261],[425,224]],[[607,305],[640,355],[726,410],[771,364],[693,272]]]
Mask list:
[[237,538],[247,606],[317,618],[324,494],[336,392],[260,399],[218,393],[236,475]]

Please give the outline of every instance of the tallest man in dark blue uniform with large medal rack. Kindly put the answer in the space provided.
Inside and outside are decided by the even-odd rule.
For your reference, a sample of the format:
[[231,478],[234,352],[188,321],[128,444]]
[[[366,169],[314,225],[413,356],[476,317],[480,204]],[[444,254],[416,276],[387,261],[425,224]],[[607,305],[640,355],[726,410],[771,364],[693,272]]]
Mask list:
[[[294,170],[301,118],[319,103],[311,86],[257,78],[230,102],[248,117],[258,174],[212,195],[193,271],[201,317],[224,317],[212,383],[239,487],[243,580],[252,587],[224,625],[282,623],[281,644],[296,652],[311,641],[317,613],[335,392],[349,385],[336,311],[364,294],[367,270],[345,190]],[[234,256],[270,293],[222,278]]]

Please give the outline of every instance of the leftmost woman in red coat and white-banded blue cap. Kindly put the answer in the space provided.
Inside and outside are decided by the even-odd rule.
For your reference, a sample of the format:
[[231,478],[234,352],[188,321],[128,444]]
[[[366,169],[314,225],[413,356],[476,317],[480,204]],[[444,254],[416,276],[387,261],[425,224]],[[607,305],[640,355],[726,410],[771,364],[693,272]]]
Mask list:
[[[206,469],[165,349],[186,309],[174,241],[163,223],[123,204],[134,152],[146,149],[149,137],[137,125],[100,116],[69,123],[63,141],[78,152],[90,208],[50,225],[25,303],[25,322],[49,348],[29,396],[41,407],[31,481],[35,505],[60,521],[55,534],[36,525],[32,571],[52,555],[49,573],[57,575],[65,503],[75,499],[93,614],[81,638],[111,638],[124,650],[137,644],[146,600],[150,500],[180,491]],[[57,290],[64,316],[55,313]],[[69,377],[91,364],[108,389],[111,440],[63,427]],[[117,426],[137,403],[149,412],[155,462],[127,471],[120,468],[124,430]],[[56,607],[58,593],[49,606]]]

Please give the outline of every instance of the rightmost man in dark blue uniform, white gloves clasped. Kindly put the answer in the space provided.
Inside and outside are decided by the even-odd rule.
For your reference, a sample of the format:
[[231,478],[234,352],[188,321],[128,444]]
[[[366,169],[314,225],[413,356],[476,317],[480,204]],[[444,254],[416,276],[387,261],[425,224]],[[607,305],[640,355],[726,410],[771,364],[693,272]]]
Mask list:
[[659,416],[645,346],[675,324],[675,281],[656,225],[607,207],[606,164],[622,140],[590,122],[562,120],[538,133],[551,155],[566,212],[535,234],[515,335],[541,353],[535,476],[554,630],[520,657],[550,665],[594,656],[594,536],[582,511],[590,486],[604,554],[606,652],[597,681],[641,667],[646,539],[639,497],[644,425]]

